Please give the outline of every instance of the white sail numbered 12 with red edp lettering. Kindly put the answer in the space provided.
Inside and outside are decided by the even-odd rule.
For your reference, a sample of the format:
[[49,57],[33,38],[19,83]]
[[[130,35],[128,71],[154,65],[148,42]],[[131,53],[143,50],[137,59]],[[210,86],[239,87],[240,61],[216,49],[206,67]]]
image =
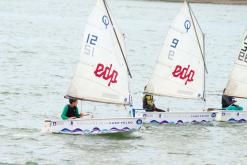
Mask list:
[[105,1],[98,0],[85,27],[80,61],[67,96],[112,104],[129,102],[124,38],[112,20]]

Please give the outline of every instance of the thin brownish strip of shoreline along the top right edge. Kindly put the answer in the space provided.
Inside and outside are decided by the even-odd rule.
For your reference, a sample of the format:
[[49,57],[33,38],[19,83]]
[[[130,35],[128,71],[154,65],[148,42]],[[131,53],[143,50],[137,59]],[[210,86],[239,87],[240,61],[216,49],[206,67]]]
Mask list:
[[[183,2],[184,0],[149,0],[149,1]],[[191,3],[247,5],[247,0],[188,0],[188,1]]]

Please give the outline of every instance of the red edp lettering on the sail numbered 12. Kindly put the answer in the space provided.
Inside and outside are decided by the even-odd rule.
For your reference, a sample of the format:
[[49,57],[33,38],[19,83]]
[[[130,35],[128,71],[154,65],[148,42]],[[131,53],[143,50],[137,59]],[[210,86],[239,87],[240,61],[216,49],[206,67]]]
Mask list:
[[105,67],[103,64],[99,63],[94,71],[94,75],[99,78],[102,77],[106,81],[110,80],[108,86],[110,86],[111,83],[117,83],[118,72],[116,70],[112,70],[112,64],[110,67]]

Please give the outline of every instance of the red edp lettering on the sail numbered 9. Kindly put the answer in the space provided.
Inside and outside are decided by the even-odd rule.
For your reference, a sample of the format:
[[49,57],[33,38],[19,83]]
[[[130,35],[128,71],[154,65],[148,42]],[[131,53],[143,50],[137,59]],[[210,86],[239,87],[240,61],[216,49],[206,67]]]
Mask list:
[[190,69],[190,65],[188,65],[188,67],[186,68],[182,68],[182,66],[177,65],[174,69],[174,71],[172,72],[173,77],[178,77],[181,80],[185,80],[185,85],[187,85],[187,82],[192,82],[194,80],[194,75],[195,75],[195,71],[194,70],[189,70]]

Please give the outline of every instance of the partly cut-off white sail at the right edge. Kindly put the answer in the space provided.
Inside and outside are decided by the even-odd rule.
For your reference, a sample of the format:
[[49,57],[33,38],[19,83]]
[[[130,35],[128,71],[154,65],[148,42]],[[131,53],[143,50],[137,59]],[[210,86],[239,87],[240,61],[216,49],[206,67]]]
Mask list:
[[225,95],[247,98],[247,31],[244,33]]

